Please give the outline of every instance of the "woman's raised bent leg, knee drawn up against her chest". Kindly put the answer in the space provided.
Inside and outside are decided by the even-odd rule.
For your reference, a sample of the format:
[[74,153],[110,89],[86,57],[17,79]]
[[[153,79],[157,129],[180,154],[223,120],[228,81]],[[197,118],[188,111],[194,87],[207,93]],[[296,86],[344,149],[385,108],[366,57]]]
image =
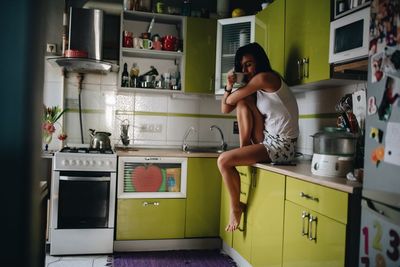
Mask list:
[[236,104],[240,147],[260,143],[264,137],[264,120],[256,106],[256,95],[250,95]]

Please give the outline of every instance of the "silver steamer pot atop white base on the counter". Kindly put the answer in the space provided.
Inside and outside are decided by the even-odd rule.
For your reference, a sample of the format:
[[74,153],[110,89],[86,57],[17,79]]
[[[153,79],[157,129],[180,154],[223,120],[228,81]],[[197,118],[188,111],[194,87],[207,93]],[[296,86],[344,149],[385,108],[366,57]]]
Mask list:
[[315,154],[355,156],[357,136],[341,128],[326,127],[312,137]]

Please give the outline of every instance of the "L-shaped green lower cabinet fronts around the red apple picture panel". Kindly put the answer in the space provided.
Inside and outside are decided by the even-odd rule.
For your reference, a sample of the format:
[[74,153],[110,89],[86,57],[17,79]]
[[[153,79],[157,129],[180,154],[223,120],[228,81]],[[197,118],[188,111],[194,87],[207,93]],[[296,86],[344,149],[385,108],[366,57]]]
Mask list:
[[116,240],[217,237],[217,158],[188,158],[186,198],[118,198]]

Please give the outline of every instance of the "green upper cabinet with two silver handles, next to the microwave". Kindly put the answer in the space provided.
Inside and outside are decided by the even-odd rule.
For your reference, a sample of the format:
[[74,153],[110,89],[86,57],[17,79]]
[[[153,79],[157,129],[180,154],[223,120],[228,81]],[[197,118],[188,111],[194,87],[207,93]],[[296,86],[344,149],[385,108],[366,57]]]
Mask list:
[[330,78],[330,0],[286,0],[285,75],[289,85]]

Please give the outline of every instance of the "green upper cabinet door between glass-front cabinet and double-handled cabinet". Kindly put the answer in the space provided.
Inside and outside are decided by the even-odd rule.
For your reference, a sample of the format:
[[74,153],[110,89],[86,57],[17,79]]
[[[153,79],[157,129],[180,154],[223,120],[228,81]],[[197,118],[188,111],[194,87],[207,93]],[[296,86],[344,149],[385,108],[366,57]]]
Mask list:
[[256,14],[255,41],[268,55],[272,68],[282,76],[285,70],[285,0],[275,0]]

